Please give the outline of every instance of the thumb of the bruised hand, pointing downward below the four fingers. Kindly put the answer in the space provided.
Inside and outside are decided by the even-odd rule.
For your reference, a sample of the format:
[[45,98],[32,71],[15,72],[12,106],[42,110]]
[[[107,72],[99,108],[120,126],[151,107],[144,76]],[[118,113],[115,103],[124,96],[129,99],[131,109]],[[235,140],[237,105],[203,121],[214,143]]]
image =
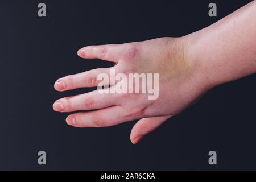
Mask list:
[[131,129],[130,139],[131,143],[138,143],[144,135],[151,133],[158,126],[162,125],[164,121],[171,118],[172,115],[152,117],[152,118],[142,118],[140,119]]

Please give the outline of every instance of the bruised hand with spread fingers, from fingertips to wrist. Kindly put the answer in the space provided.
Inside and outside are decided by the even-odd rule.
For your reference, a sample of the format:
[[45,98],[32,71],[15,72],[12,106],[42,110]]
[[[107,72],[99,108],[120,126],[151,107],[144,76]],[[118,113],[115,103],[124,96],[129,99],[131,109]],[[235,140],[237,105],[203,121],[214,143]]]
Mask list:
[[[186,37],[84,47],[78,51],[80,57],[113,61],[116,63],[112,67],[115,74],[159,73],[158,98],[149,100],[149,93],[101,94],[94,90],[61,98],[53,104],[53,109],[59,112],[90,110],[67,117],[68,125],[75,127],[106,127],[140,119],[131,130],[130,139],[135,144],[210,88],[201,74],[199,64],[189,59],[187,48]],[[110,76],[110,68],[98,68],[60,78],[55,82],[55,89],[65,91],[98,86],[101,80],[97,76],[100,73]],[[112,88],[118,85],[117,81],[108,84]]]

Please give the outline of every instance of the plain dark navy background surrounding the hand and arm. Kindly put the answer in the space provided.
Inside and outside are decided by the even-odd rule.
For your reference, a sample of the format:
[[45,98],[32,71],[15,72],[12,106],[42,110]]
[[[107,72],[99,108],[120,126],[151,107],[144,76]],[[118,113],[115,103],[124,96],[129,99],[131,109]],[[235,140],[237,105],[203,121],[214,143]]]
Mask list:
[[[217,18],[208,16],[210,2]],[[77,49],[183,36],[249,2],[1,0],[0,169],[256,169],[256,75],[214,88],[135,146],[135,122],[77,129],[52,110],[57,98],[89,91],[58,93],[57,78],[112,65],[82,60]],[[46,166],[38,165],[40,150]],[[217,166],[208,164],[211,150]]]

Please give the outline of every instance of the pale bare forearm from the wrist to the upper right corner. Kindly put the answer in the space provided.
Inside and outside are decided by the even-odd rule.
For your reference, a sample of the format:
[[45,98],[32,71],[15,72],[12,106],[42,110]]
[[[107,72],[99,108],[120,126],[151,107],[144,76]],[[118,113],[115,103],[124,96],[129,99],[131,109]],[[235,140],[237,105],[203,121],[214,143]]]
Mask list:
[[256,1],[217,23],[185,36],[186,58],[210,85],[256,72]]

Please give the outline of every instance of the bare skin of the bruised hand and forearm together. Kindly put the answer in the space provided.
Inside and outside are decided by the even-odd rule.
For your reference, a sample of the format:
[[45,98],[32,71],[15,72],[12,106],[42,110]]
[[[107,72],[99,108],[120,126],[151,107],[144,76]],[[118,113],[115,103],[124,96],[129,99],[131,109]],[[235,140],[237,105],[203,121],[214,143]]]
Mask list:
[[[212,26],[181,38],[81,48],[77,54],[84,59],[116,63],[116,74],[159,73],[159,97],[148,100],[147,94],[100,94],[94,90],[61,98],[53,109],[79,111],[66,119],[74,127],[106,127],[139,119],[130,134],[131,142],[138,143],[214,86],[256,72],[255,17],[253,1]],[[99,73],[110,75],[110,68],[69,75],[54,86],[61,92],[98,86]]]

